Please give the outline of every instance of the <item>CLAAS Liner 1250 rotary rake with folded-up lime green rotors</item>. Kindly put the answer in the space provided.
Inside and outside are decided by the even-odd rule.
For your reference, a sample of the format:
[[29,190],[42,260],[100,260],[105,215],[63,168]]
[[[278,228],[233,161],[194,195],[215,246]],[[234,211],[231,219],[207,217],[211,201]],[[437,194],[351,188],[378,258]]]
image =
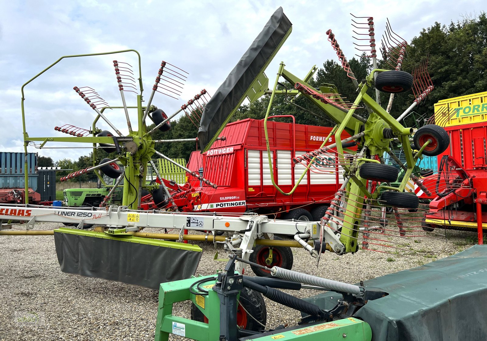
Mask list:
[[[371,30],[371,57],[375,61],[375,39],[373,39],[374,23],[371,18],[367,20],[367,27]],[[445,131],[438,126],[430,125],[429,129],[421,127],[414,136],[415,148],[417,152],[413,152],[411,147],[412,128],[402,126],[395,120],[388,111],[384,110],[377,102],[372,99],[366,91],[375,87],[380,91],[391,93],[391,103],[393,94],[405,92],[410,90],[413,85],[417,93],[417,98],[408,110],[401,115],[404,117],[407,113],[417,105],[424,97],[432,90],[432,86],[428,85],[419,78],[413,78],[411,74],[400,71],[402,60],[404,57],[405,43],[400,44],[400,48],[386,46],[386,55],[389,60],[395,60],[396,67],[393,71],[374,69],[363,81],[358,83],[353,71],[351,70],[347,59],[341,51],[337,39],[330,31],[327,32],[329,41],[332,47],[337,52],[338,58],[347,72],[348,76],[354,82],[357,88],[358,95],[354,102],[348,102],[341,96],[337,88],[330,84],[323,84],[318,88],[312,87],[308,82],[316,72],[317,68],[314,66],[303,79],[298,78],[291,72],[285,69],[284,63],[280,64],[278,76],[272,89],[269,89],[269,81],[265,76],[265,69],[277,54],[278,50],[283,45],[286,38],[291,34],[292,24],[289,19],[283,14],[282,9],[278,9],[271,17],[267,25],[264,27],[260,35],[254,40],[248,51],[241,58],[237,66],[227,77],[222,86],[216,91],[214,96],[209,99],[204,106],[200,120],[200,131],[198,133],[198,141],[201,145],[202,152],[207,151],[213,142],[217,139],[224,141],[219,134],[225,127],[242,104],[245,98],[250,102],[256,101],[264,94],[270,94],[270,103],[264,119],[264,135],[267,149],[267,161],[269,162],[269,169],[271,170],[270,179],[282,195],[292,194],[300,181],[295,183],[295,186],[289,192],[284,192],[279,183],[276,183],[276,177],[272,174],[272,156],[269,146],[269,136],[267,129],[267,119],[270,117],[272,103],[276,95],[285,96],[284,98],[290,103],[294,103],[296,96],[304,96],[309,99],[316,107],[324,114],[329,116],[336,126],[331,129],[327,137],[323,139],[323,144],[316,150],[313,150],[304,155],[298,155],[293,159],[293,164],[301,163],[301,169],[304,168],[302,175],[306,172],[330,172],[336,169],[336,172],[343,170],[344,179],[341,187],[333,197],[331,205],[326,212],[323,212],[319,221],[283,221],[275,220],[265,215],[255,214],[238,214],[238,215],[216,215],[216,214],[191,214],[177,212],[175,205],[171,206],[168,211],[152,210],[142,211],[137,208],[141,204],[141,190],[148,189],[152,193],[154,200],[158,198],[160,202],[171,201],[171,196],[167,185],[168,181],[159,179],[159,185],[145,185],[147,163],[150,162],[153,155],[158,155],[170,162],[171,159],[165,155],[155,151],[154,141],[150,137],[150,133],[155,129],[166,131],[170,128],[170,119],[187,108],[187,105],[194,103],[193,99],[188,101],[187,105],[183,105],[181,109],[175,113],[166,115],[164,111],[151,105],[155,92],[170,91],[169,94],[174,97],[178,95],[180,87],[175,84],[182,85],[185,80],[185,74],[182,70],[171,66],[171,69],[165,76],[165,70],[169,68],[169,63],[162,62],[156,82],[152,88],[150,99],[146,106],[143,106],[142,97],[142,78],[140,76],[140,57],[139,58],[139,78],[138,88],[136,92],[136,103],[134,107],[128,107],[126,104],[125,90],[135,92],[137,83],[132,77],[131,67],[128,64],[114,61],[115,75],[117,85],[120,90],[122,106],[108,107],[101,109],[97,108],[95,102],[103,101],[98,99],[100,96],[91,88],[78,88],[74,90],[84,99],[96,113],[93,126],[90,129],[77,130],[72,126],[62,128],[68,129],[69,137],[31,137],[27,134],[24,128],[25,146],[40,142],[37,147],[46,147],[46,144],[52,142],[84,142],[92,144],[94,147],[94,159],[96,159],[96,148],[108,148],[118,154],[118,157],[110,160],[104,159],[98,165],[77,171],[70,174],[67,178],[76,177],[87,171],[96,171],[100,169],[105,175],[112,178],[124,178],[123,183],[123,203],[121,206],[111,205],[103,208],[41,208],[33,205],[25,206],[1,206],[0,219],[12,220],[29,220],[27,228],[31,229],[36,221],[54,221],[67,224],[74,224],[75,229],[57,229],[54,232],[56,239],[56,252],[63,271],[79,273],[92,277],[101,277],[107,279],[115,279],[131,284],[141,284],[148,287],[157,288],[158,284],[171,279],[180,279],[188,277],[194,273],[197,262],[194,262],[189,257],[181,257],[184,259],[184,264],[177,263],[178,269],[187,269],[186,272],[181,271],[179,278],[170,277],[167,274],[174,274],[175,271],[170,271],[171,257],[165,258],[167,262],[164,266],[151,271],[150,266],[154,265],[151,259],[158,257],[157,252],[163,249],[176,249],[179,254],[196,254],[201,251],[198,248],[187,245],[185,249],[179,243],[155,243],[153,239],[175,239],[175,240],[203,240],[222,243],[225,251],[228,251],[244,261],[250,259],[253,249],[265,246],[267,255],[264,256],[263,263],[265,265],[276,265],[277,258],[287,255],[283,268],[290,269],[292,267],[292,252],[278,252],[279,248],[288,247],[303,247],[313,257],[316,258],[317,264],[320,255],[323,251],[332,251],[337,254],[344,254],[347,252],[356,252],[361,244],[364,250],[375,250],[375,245],[383,245],[392,247],[390,244],[395,244],[393,247],[395,252],[412,252],[409,248],[401,248],[405,246],[404,242],[399,243],[382,243],[383,236],[386,234],[393,236],[397,233],[397,237],[402,236],[417,236],[418,233],[414,228],[411,229],[414,222],[418,220],[412,217],[409,227],[406,227],[403,212],[399,208],[415,210],[418,207],[418,198],[409,193],[404,193],[404,187],[408,179],[415,179],[412,175],[412,169],[417,159],[424,153],[427,155],[437,155],[443,152],[448,146],[448,136],[445,138]],[[393,38],[392,30],[388,26],[386,36]],[[398,40],[399,41],[399,40]],[[105,54],[121,53],[121,52],[135,52],[134,50],[118,51]],[[135,52],[136,53],[136,52]],[[86,56],[86,55],[82,55]],[[71,57],[71,56],[70,56]],[[57,62],[65,57],[61,57]],[[169,65],[169,66],[168,66]],[[49,69],[48,68],[48,69]],[[46,69],[46,70],[48,70]],[[45,72],[44,70],[43,72]],[[40,72],[39,75],[43,72]],[[168,76],[169,75],[169,76]],[[38,75],[37,75],[38,76]],[[28,81],[25,85],[30,83]],[[164,77],[169,77],[169,86],[162,86]],[[290,83],[294,89],[277,90],[280,79]],[[23,111],[23,88],[22,87],[22,117],[25,126],[25,115]],[[173,88],[176,87],[176,88]],[[172,89],[172,90],[168,90]],[[194,97],[194,100],[203,98],[206,91],[202,91]],[[205,101],[206,102],[206,101]],[[100,102],[106,105],[105,102]],[[128,134],[124,136],[112,122],[104,114],[106,108],[117,108],[125,114],[127,121]],[[368,118],[364,118],[357,114],[359,108],[363,108],[368,112]],[[137,111],[137,130],[132,128],[128,109],[136,109]],[[150,117],[156,126],[148,131],[146,126],[146,118]],[[102,119],[111,131],[96,128],[98,119]],[[196,118],[196,116],[194,117]],[[56,129],[58,130],[58,129]],[[72,132],[72,133],[71,133]],[[342,132],[346,132],[350,137],[340,141]],[[83,136],[78,136],[81,134]],[[92,136],[86,136],[91,134]],[[344,135],[346,135],[344,134]],[[327,141],[334,136],[337,143],[328,144]],[[404,155],[406,157],[406,164],[401,163],[400,166],[404,168],[405,175],[403,181],[398,187],[391,187],[388,183],[397,180],[398,170],[386,164],[383,164],[381,156],[384,152],[389,152],[389,144],[392,141],[401,143],[404,147]],[[164,140],[160,140],[164,141]],[[355,150],[349,148],[350,145],[356,145]],[[330,157],[330,155],[332,157]],[[391,155],[395,157],[394,154]],[[265,160],[265,152],[264,152]],[[118,166],[118,162],[123,164],[124,169]],[[176,162],[173,162],[176,163]],[[182,167],[181,165],[178,165]],[[156,168],[156,167],[153,167]],[[211,182],[211,179],[206,179],[204,175],[200,175],[196,171],[190,171],[186,167],[190,177],[195,177],[208,186],[216,186]],[[298,168],[298,167],[296,167]],[[295,168],[295,170],[296,170]],[[99,175],[99,174],[97,174]],[[300,179],[303,178],[301,175]],[[299,176],[299,175],[298,175]],[[101,177],[100,177],[101,178]],[[103,181],[103,179],[100,179]],[[113,186],[120,183],[117,181]],[[417,182],[421,185],[421,182]],[[288,188],[288,187],[287,187]],[[160,203],[159,202],[159,203]],[[161,207],[164,207],[162,205]],[[392,222],[387,225],[385,213],[382,217],[378,215],[381,208],[386,206],[394,207],[396,227]],[[374,214],[377,211],[377,214]],[[384,212],[384,210],[382,211]],[[27,216],[27,218],[26,218]],[[420,220],[419,220],[420,221]],[[97,225],[94,231],[83,231],[85,224]],[[387,225],[387,226],[386,226]],[[420,226],[420,222],[417,223]],[[178,229],[178,234],[167,233],[144,233],[141,230],[146,227],[153,228],[170,228]],[[184,230],[206,231],[205,235],[185,235]],[[298,233],[297,233],[298,231]],[[424,235],[424,231],[420,229]],[[225,233],[225,235],[217,235]],[[363,234],[363,238],[359,237],[359,233]],[[49,234],[48,232],[36,231],[3,231],[0,234]],[[274,234],[288,235],[294,240],[280,240],[274,237]],[[374,237],[379,235],[378,237]],[[395,235],[394,235],[395,236]],[[140,238],[140,239],[139,239]],[[142,242],[142,238],[146,242]],[[96,242],[95,242],[96,241]],[[152,244],[150,244],[152,243]],[[157,245],[155,245],[157,244]],[[113,247],[111,246],[113,245]],[[132,245],[137,245],[137,250]],[[256,246],[257,245],[257,246]],[[97,249],[111,250],[112,254],[106,252],[89,252],[87,250]],[[132,248],[130,248],[132,247]],[[72,250],[84,250],[83,252],[72,252]],[[155,249],[154,249],[155,248]],[[148,252],[144,255],[144,249]],[[155,250],[155,251],[154,251]],[[281,249],[282,250],[282,249]],[[155,252],[152,255],[150,252]],[[289,251],[289,250],[287,250]],[[376,250],[381,251],[381,250]],[[108,251],[107,251],[108,252]],[[132,253],[131,253],[132,252]],[[385,251],[381,251],[385,252]],[[162,254],[161,252],[160,254]],[[132,254],[129,259],[128,255]],[[133,258],[137,254],[139,257]],[[82,256],[80,256],[82,255]],[[177,255],[176,255],[177,256]],[[110,263],[101,262],[102,259],[110,258]],[[159,259],[159,258],[157,258]],[[194,256],[198,259],[198,256]],[[128,264],[131,263],[131,264]],[[260,266],[264,265],[260,262]],[[100,266],[93,268],[93,264],[100,264]],[[108,264],[103,267],[103,264]],[[144,273],[151,273],[150,280],[139,280],[138,272],[132,271],[131,266],[136,267],[140,264],[147,267]],[[159,263],[158,263],[159,264]],[[162,264],[162,263],[161,263]],[[172,262],[172,264],[176,264]],[[130,265],[130,266],[129,266]],[[113,267],[111,269],[110,267]],[[163,271],[162,268],[168,267]],[[244,272],[245,263],[237,261],[235,264],[236,270],[239,273]],[[174,266],[172,266],[174,268]],[[259,266],[252,265],[252,268],[257,273],[261,270]],[[125,269],[125,270],[123,270]],[[266,272],[265,272],[266,271]],[[261,274],[268,274],[269,270],[261,271]],[[176,271],[177,272],[177,271]],[[183,273],[184,272],[184,273]],[[113,273],[118,273],[114,276]]]

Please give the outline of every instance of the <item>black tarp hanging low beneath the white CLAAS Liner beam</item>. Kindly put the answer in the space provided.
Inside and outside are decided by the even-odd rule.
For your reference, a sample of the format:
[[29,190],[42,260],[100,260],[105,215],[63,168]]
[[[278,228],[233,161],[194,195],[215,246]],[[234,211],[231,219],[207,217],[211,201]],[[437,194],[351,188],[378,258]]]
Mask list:
[[200,248],[197,248],[200,251],[182,250],[130,242],[124,238],[56,231],[54,242],[61,271],[155,290],[161,283],[194,275],[202,255]]

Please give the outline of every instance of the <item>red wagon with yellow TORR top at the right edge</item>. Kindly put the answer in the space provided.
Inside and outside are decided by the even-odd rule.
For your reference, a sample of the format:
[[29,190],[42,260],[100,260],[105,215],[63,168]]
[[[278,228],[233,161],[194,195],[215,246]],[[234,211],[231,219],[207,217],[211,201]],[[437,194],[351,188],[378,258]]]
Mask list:
[[432,188],[437,196],[425,229],[476,228],[481,242],[487,228],[487,92],[440,101],[435,120],[445,126],[450,147],[438,156],[440,182]]

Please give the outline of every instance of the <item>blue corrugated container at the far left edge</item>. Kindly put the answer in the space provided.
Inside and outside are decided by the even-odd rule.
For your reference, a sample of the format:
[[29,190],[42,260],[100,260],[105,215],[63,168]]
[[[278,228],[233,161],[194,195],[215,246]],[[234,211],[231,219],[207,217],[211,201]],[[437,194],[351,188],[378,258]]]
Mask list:
[[[0,152],[0,188],[24,188],[24,153]],[[37,191],[37,153],[27,153],[28,186]]]

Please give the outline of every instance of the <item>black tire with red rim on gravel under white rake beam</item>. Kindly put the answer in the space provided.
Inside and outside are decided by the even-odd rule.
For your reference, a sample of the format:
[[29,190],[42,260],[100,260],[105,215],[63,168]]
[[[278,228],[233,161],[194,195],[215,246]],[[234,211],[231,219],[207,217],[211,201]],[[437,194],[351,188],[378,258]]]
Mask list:
[[[282,240],[281,237],[278,237],[274,234],[275,240]],[[265,259],[269,256],[269,246],[266,245],[256,245],[254,248],[254,252],[250,253],[249,261],[253,263],[257,263],[259,265],[263,265],[267,268],[272,268],[273,266],[277,266],[284,269],[292,269],[293,268],[293,251],[291,248],[287,246],[273,246],[272,247],[272,263],[266,264]],[[250,268],[256,276],[265,277],[270,275],[270,271],[258,268],[256,266],[251,265]]]

